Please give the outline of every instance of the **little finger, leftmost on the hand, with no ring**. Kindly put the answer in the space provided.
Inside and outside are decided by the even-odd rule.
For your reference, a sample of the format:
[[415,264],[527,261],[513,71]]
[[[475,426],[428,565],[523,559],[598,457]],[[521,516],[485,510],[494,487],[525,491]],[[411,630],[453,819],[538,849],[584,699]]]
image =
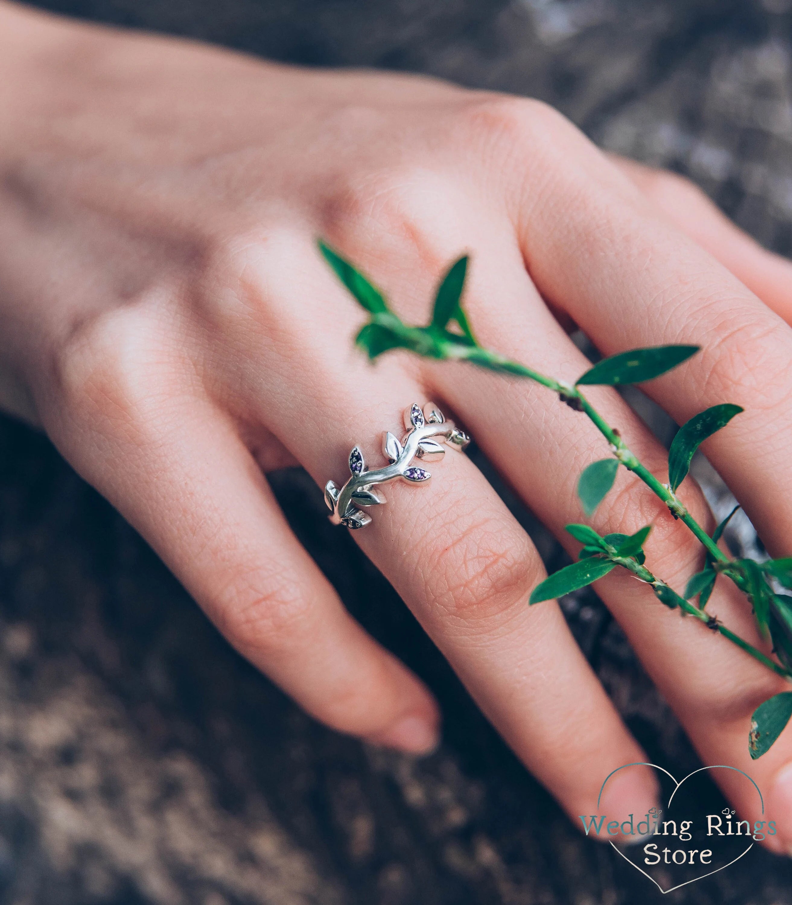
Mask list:
[[433,748],[428,691],[349,616],[234,425],[196,391],[177,350],[162,351],[169,331],[142,320],[121,310],[72,340],[61,398],[42,400],[55,442],[234,647],[313,716],[381,744]]

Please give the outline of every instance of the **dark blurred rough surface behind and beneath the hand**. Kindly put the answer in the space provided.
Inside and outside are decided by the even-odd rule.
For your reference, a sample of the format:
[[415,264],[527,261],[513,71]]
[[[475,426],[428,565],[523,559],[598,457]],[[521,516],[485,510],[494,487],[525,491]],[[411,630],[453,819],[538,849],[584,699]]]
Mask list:
[[[792,252],[792,0],[42,5],[285,61],[537,96],[606,148],[692,176],[759,241]],[[348,533],[329,526],[310,481],[281,472],[272,485],[350,610],[434,689],[442,748],[416,761],[307,718],[50,443],[0,419],[0,905],[663,900],[520,767]],[[558,565],[555,543],[519,514]],[[732,541],[750,543],[749,526]],[[578,595],[565,610],[652,759],[680,776],[696,767],[603,607]],[[701,795],[720,810],[713,788]],[[744,863],[664,901],[792,902],[792,862],[755,849]]]

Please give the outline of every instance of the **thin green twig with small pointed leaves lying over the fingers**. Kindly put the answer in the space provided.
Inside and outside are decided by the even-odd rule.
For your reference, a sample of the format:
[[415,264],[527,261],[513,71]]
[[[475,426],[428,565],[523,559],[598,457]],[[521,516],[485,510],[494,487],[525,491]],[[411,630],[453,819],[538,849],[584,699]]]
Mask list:
[[[632,536],[607,534],[600,537],[587,525],[568,525],[567,530],[583,548],[577,562],[560,569],[533,589],[530,604],[538,604],[577,588],[585,587],[606,576],[616,567],[625,568],[638,581],[652,587],[654,595],[670,609],[690,615],[713,633],[749,653],[772,672],[792,679],[792,596],[778,593],[777,587],[792,590],[792,557],[759,563],[748,558],[730,558],[718,542],[734,512],[723,519],[710,536],[693,519],[676,491],[687,477],[693,454],[701,443],[729,424],[742,412],[740,405],[713,405],[693,415],[682,425],[669,451],[669,481],[663,484],[635,456],[621,434],[599,414],[581,391],[581,386],[628,386],[644,383],[667,373],[692,357],[698,346],[657,346],[633,349],[604,358],[577,378],[574,386],[554,377],[540,374],[530,367],[479,345],[473,335],[461,299],[468,258],[454,262],[444,276],[434,299],[432,320],[425,327],[406,324],[388,307],[382,292],[352,264],[327,244],[320,241],[320,252],[358,303],[367,310],[369,320],[358,332],[356,344],[374,359],[389,349],[405,348],[427,358],[467,361],[501,374],[526,378],[547,387],[561,402],[576,412],[586,414],[610,445],[611,458],[588,465],[577,483],[577,495],[587,516],[605,499],[612,488],[619,465],[633,472],[668,507],[674,519],[680,519],[699,539],[705,551],[704,568],[691,576],[682,595],[653,575],[644,566],[644,542],[652,529],[645,526]],[[745,595],[753,608],[759,633],[771,639],[777,660],[740,638],[720,620],[706,611],[712,589],[719,575],[729,578]],[[698,597],[698,605],[692,599]],[[754,712],[749,734],[749,752],[761,757],[773,745],[792,719],[792,691],[784,691],[766,700]]]

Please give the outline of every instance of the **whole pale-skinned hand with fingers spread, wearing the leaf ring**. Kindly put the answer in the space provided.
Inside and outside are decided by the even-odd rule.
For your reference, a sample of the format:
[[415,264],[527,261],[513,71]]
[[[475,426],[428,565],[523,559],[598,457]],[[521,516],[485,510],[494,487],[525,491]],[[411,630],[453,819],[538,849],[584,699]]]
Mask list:
[[[704,449],[775,556],[792,553],[792,267],[689,184],[608,159],[554,110],[424,78],[300,71],[0,4],[0,403],[39,424],[157,549],[228,640],[343,732],[422,752],[429,691],[339,603],[291,535],[262,472],[299,462],[323,486],[359,443],[432,399],[530,508],[581,520],[577,475],[602,458],[546,390],[402,353],[369,367],[362,312],[316,250],[324,236],[425,321],[444,266],[472,252],[465,304],[482,343],[573,381],[564,325],[605,354],[698,343],[647,386],[682,422],[744,406]],[[661,480],[665,452],[615,392],[588,394]],[[494,404],[493,404],[494,401]],[[558,606],[530,539],[463,455],[431,487],[388,485],[356,533],[482,709],[568,813],[622,820],[655,804],[645,760]],[[692,481],[681,497],[712,527]],[[592,519],[647,522],[647,566],[672,586],[701,548],[620,473]],[[597,584],[740,815],[792,849],[792,732],[749,760],[749,715],[785,688],[628,576]],[[720,581],[711,611],[752,643]],[[723,774],[720,776],[720,774]],[[789,777],[792,783],[792,776]],[[786,819],[786,824],[785,824]],[[577,821],[579,823],[579,821]]]

